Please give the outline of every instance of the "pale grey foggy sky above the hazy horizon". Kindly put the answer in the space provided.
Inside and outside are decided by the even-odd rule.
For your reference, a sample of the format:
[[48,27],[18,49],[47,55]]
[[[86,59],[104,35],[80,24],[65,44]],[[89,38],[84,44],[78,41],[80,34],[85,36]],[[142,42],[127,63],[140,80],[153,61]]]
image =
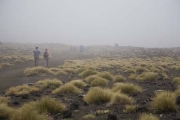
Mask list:
[[0,41],[180,46],[180,0],[0,0]]

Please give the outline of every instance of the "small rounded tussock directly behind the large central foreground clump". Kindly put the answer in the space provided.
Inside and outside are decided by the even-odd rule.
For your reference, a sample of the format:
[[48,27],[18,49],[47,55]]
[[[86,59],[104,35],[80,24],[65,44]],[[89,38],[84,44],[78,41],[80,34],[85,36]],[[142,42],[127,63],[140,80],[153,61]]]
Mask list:
[[96,77],[90,84],[91,86],[93,87],[96,87],[96,86],[102,86],[102,87],[106,87],[108,86],[108,80],[107,79],[104,79],[102,77]]

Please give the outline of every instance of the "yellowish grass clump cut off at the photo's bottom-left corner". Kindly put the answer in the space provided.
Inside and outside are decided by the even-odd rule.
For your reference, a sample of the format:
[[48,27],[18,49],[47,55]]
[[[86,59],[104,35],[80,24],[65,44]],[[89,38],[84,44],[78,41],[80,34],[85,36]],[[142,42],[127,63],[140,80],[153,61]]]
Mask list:
[[14,113],[14,109],[9,107],[7,104],[0,104],[0,119],[9,119]]

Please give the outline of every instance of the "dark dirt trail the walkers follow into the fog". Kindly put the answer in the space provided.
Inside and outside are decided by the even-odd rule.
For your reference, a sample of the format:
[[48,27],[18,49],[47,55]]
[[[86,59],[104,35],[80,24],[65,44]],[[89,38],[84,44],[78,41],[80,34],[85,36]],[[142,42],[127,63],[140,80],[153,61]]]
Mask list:
[[[92,57],[91,55],[75,54],[75,53],[62,53],[61,55],[54,55],[49,61],[49,67],[57,67],[64,63],[64,60],[73,59],[86,59]],[[44,65],[44,60],[39,61],[39,66]],[[33,67],[34,62],[15,69],[8,69],[0,72],[0,93],[7,90],[9,87],[27,83],[26,80],[21,79],[24,77],[24,70],[28,67]]]

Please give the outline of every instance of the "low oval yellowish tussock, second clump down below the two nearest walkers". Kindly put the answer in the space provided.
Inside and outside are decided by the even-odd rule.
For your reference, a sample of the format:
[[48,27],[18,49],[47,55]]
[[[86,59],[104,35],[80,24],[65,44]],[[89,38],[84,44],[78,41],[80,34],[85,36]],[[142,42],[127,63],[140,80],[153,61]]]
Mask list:
[[36,86],[40,88],[52,88],[55,89],[59,87],[62,84],[62,82],[58,79],[45,79],[45,80],[40,80],[36,83]]

